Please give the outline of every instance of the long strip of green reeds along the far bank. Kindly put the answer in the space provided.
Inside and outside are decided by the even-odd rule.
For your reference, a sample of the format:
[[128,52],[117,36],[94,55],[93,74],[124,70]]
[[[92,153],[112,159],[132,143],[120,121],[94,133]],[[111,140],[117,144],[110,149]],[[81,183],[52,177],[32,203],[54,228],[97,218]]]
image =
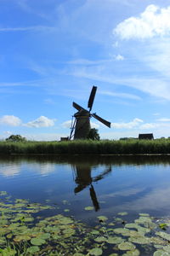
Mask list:
[[0,142],[0,154],[170,154],[170,139]]

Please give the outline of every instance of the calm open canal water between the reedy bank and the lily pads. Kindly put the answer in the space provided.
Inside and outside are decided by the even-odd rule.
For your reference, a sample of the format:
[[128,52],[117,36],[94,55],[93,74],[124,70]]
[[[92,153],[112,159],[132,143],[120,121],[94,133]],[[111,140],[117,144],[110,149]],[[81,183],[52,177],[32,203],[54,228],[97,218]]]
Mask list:
[[[170,159],[163,156],[10,156],[0,159],[1,191],[7,191],[13,199],[54,206],[43,211],[42,218],[61,213],[91,227],[99,224],[97,217],[106,216],[111,222],[115,217],[120,218],[119,212],[128,213],[128,223],[139,218],[139,213],[149,213],[157,219],[169,218],[169,180]],[[86,207],[94,208],[87,211]],[[123,224],[117,226],[123,227]],[[167,233],[169,231],[167,228]],[[143,245],[137,244],[137,247],[144,256],[156,251],[153,245],[150,250]],[[109,255],[113,245],[105,250],[102,255]]]

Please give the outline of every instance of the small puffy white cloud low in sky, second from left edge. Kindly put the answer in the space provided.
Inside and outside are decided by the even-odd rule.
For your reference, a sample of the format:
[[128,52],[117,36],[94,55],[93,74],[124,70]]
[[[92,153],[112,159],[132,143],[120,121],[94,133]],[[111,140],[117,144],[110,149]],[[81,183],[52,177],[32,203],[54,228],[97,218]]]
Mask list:
[[36,128],[54,126],[54,119],[48,119],[47,117],[42,115],[39,118],[28,122],[26,126]]

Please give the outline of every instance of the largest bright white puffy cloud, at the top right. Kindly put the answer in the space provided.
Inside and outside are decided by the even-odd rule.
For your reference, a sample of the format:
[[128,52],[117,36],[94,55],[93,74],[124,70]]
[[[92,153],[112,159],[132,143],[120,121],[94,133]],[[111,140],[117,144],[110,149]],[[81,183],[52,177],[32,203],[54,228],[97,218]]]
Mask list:
[[123,20],[113,31],[122,39],[145,39],[170,35],[170,6],[150,4],[139,17]]

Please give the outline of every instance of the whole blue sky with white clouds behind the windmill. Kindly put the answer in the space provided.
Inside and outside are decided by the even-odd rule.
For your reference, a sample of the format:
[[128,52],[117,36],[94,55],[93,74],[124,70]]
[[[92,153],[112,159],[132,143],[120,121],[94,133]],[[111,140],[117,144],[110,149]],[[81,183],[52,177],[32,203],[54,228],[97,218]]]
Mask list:
[[170,137],[170,0],[0,0],[0,139],[59,140],[88,108],[102,139]]

